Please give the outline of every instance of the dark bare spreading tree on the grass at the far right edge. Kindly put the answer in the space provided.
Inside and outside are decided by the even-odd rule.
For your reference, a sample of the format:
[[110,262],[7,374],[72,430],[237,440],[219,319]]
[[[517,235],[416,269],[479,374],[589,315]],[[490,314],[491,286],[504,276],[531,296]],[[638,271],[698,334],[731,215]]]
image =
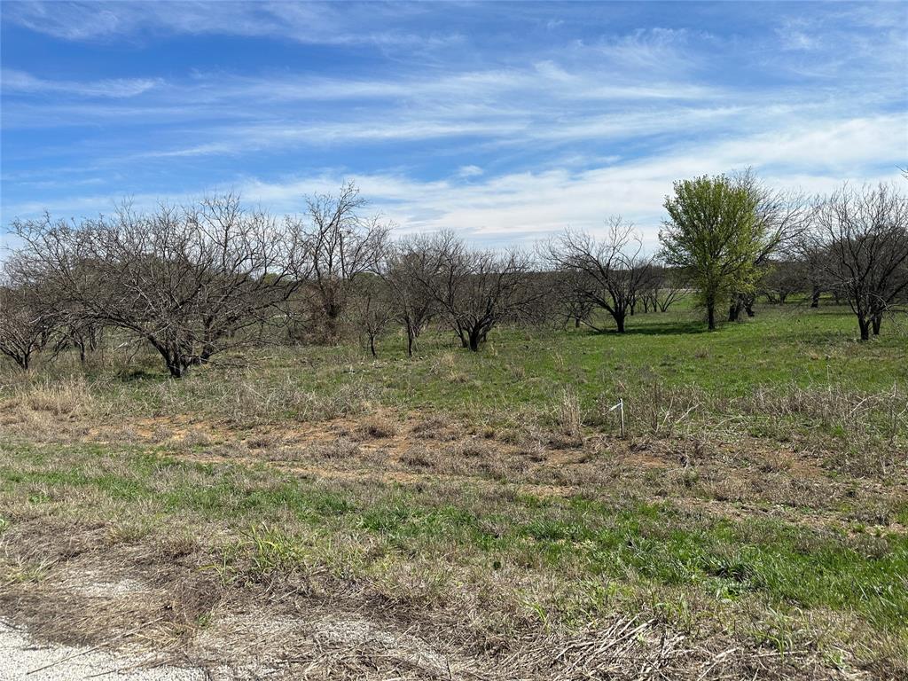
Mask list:
[[908,197],[890,184],[845,185],[815,202],[801,248],[824,286],[848,301],[867,341],[908,290]]

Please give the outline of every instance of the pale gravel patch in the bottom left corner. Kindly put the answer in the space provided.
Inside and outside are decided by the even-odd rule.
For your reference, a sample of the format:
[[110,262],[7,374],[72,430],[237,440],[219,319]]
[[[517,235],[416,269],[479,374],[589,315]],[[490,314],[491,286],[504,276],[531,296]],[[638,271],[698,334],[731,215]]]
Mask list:
[[202,681],[205,678],[200,669],[141,668],[149,661],[88,647],[35,643],[21,629],[0,620],[0,681],[82,681],[99,677],[116,681]]

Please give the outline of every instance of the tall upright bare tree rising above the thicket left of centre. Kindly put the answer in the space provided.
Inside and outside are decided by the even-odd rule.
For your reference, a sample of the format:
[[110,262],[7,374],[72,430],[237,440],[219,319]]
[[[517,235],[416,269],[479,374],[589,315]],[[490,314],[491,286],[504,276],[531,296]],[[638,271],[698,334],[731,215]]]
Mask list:
[[377,218],[360,215],[366,201],[353,183],[343,184],[337,195],[314,194],[306,202],[309,223],[301,227],[301,242],[307,290],[314,293],[321,312],[323,340],[336,343],[356,280],[377,268],[389,228]]

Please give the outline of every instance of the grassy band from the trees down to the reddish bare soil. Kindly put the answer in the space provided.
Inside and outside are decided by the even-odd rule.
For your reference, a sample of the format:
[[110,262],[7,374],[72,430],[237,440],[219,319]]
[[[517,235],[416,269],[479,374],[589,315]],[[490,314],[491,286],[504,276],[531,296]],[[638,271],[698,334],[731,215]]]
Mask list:
[[225,357],[174,382],[145,355],[141,367],[96,370],[89,381],[113,418],[172,414],[254,425],[355,414],[380,403],[498,427],[551,428],[568,390],[587,426],[606,431],[617,421],[605,408],[622,398],[631,433],[718,424],[757,438],[822,434],[842,447],[855,438],[892,447],[908,435],[901,413],[908,337],[890,322],[861,343],[854,327],[844,308],[789,304],[763,306],[754,319],[709,332],[696,311],[680,309],[638,314],[625,334],[495,329],[478,353],[433,330],[412,359],[391,336],[381,340],[377,360],[355,345],[274,347],[243,357],[246,368]]

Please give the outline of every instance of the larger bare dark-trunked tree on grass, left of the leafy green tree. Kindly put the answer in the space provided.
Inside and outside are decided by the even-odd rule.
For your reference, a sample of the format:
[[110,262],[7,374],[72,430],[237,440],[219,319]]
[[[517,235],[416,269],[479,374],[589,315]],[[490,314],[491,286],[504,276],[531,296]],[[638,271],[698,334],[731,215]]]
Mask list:
[[[643,242],[632,224],[611,218],[602,241],[585,232],[565,232],[548,243],[545,257],[556,269],[573,275],[569,281],[578,301],[607,311],[617,331],[625,331],[627,315],[652,275],[652,259],[643,254]],[[602,331],[591,316],[579,321]]]

